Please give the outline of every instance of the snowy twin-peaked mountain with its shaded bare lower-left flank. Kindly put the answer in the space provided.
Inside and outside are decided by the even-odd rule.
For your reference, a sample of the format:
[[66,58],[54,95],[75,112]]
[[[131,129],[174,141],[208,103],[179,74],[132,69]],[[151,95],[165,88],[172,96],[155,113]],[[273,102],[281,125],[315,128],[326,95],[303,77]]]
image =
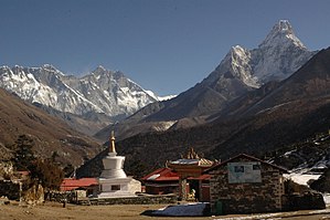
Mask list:
[[313,54],[295,36],[288,21],[279,21],[257,49],[233,46],[204,81],[169,101],[149,118],[169,121],[220,111],[247,91],[285,80]]

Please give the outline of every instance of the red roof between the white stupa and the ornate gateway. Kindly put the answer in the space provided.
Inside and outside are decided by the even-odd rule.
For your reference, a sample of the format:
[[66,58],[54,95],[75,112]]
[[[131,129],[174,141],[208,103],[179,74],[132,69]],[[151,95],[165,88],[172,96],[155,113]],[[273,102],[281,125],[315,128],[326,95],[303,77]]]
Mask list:
[[141,178],[143,181],[179,181],[179,175],[170,168],[159,168]]

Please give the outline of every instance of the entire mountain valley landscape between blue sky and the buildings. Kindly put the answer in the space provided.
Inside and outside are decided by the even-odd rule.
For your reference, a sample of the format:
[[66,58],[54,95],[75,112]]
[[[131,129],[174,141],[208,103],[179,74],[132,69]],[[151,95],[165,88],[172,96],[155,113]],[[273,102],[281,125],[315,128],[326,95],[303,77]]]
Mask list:
[[136,178],[190,147],[212,160],[244,153],[287,169],[328,168],[329,143],[307,139],[329,130],[329,59],[330,49],[309,51],[280,20],[258,48],[232,46],[203,81],[170,99],[103,66],[81,77],[50,64],[2,66],[2,159],[28,134],[41,157],[57,153],[77,177],[98,177],[115,130]]

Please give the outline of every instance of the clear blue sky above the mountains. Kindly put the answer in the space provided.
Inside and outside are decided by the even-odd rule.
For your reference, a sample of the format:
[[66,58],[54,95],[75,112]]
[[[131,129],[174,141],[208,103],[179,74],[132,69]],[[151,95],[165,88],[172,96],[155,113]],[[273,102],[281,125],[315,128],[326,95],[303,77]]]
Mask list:
[[310,50],[330,46],[327,0],[0,0],[0,65],[103,65],[158,95],[206,77],[231,46],[257,48],[287,19]]

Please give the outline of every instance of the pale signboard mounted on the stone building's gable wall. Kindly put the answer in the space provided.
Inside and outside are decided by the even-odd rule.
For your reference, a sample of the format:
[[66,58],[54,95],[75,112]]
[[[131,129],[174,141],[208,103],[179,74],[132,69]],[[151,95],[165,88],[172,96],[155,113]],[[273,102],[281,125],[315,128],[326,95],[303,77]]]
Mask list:
[[259,161],[228,163],[228,182],[262,182],[262,171]]

